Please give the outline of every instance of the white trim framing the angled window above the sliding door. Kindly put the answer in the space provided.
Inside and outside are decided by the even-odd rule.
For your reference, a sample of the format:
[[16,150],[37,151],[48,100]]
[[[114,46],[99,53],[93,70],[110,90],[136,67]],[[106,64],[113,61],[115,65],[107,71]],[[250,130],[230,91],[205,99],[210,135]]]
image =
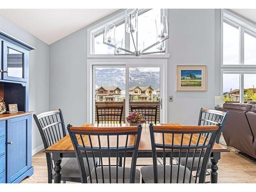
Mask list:
[[[168,18],[168,9],[162,9],[163,15]],[[93,54],[91,50],[94,47],[93,35],[102,31],[105,28],[105,25],[108,23],[118,24],[124,19],[125,11],[122,11],[108,19],[105,19],[103,22],[95,24],[94,26],[87,29],[87,57],[88,58],[138,58],[130,55],[114,55],[114,54]],[[161,11],[162,12],[162,11]],[[169,27],[169,26],[168,26]],[[128,33],[125,33],[127,35]],[[169,34],[170,35],[170,34]],[[170,37],[169,37],[170,38]],[[126,45],[130,45],[130,41],[128,42],[127,38],[124,39]],[[102,39],[103,41],[103,39]],[[168,54],[168,40],[165,41],[165,53],[163,54],[151,54],[151,55],[142,55],[142,58],[168,58],[170,55]],[[139,58],[138,58],[139,59]]]

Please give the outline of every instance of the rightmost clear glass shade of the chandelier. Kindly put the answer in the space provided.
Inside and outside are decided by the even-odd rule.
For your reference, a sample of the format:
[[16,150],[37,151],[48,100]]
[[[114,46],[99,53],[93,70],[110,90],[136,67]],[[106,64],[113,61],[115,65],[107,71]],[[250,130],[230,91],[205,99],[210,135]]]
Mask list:
[[156,29],[157,29],[157,38],[163,39],[168,35],[168,23],[167,17],[165,15],[158,16],[156,18]]

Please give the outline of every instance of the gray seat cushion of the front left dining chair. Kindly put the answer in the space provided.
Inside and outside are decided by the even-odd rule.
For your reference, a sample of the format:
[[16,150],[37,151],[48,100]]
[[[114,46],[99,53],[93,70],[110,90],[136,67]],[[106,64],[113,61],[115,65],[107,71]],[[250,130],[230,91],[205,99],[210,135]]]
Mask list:
[[[98,183],[103,183],[102,179],[102,170],[101,167],[96,168]],[[130,173],[131,168],[125,167],[124,168],[124,183],[130,183]],[[96,175],[95,170],[93,169],[92,172],[92,183],[96,182]],[[104,183],[110,183],[110,172],[109,167],[103,167],[103,176],[104,176]],[[123,167],[118,167],[118,183],[123,183]],[[88,183],[91,183],[90,177],[88,178]],[[116,167],[111,167],[111,183],[116,183]],[[136,168],[135,172],[135,183],[140,183],[140,170]]]

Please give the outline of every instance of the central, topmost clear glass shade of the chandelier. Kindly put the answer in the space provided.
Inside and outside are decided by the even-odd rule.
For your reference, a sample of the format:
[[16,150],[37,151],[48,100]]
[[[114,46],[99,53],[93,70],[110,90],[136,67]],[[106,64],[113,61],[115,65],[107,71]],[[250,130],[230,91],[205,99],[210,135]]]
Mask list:
[[134,33],[138,31],[138,10],[126,9],[125,11],[125,31]]

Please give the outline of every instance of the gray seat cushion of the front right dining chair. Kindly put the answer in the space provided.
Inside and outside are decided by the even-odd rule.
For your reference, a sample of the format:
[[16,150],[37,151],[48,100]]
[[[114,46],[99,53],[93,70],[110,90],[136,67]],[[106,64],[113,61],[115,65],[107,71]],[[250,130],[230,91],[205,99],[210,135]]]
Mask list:
[[[158,183],[164,183],[164,166],[158,165]],[[142,179],[145,183],[154,183],[154,166],[143,166],[140,169]],[[183,183],[184,166],[180,166],[178,183]],[[178,165],[173,165],[172,169],[172,183],[177,183]],[[189,183],[190,171],[188,168],[185,170],[184,183]],[[191,183],[195,183],[193,175],[191,176]],[[165,166],[165,183],[170,183],[170,165]]]

